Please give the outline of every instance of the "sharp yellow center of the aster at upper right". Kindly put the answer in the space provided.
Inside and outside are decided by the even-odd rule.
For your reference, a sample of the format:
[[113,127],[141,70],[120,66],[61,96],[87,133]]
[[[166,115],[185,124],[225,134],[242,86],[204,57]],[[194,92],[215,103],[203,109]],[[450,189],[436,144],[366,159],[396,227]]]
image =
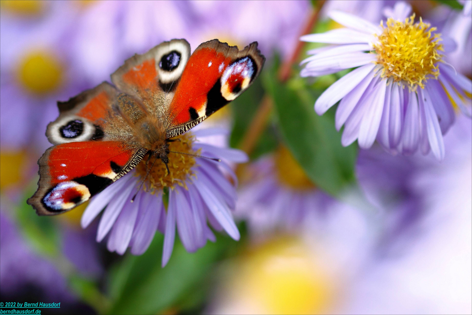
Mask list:
[[378,55],[377,64],[383,66],[380,76],[405,81],[414,91],[418,86],[424,88],[429,77],[438,78],[438,62],[444,51],[440,34],[432,35],[436,27],[420,21],[413,23],[415,15],[399,22],[388,18],[387,26],[379,35],[379,42],[374,44]]

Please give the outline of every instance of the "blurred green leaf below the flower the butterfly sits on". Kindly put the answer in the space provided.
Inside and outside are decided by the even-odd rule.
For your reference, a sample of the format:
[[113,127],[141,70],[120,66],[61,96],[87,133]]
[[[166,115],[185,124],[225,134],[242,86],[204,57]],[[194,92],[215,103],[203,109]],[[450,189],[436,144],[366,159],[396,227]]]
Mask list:
[[202,298],[192,291],[203,288],[213,264],[236,246],[231,238],[219,236],[215,243],[208,242],[195,253],[188,253],[176,238],[169,263],[162,268],[163,239],[156,233],[143,255],[126,255],[111,272],[110,314],[157,314],[181,303],[195,307]]

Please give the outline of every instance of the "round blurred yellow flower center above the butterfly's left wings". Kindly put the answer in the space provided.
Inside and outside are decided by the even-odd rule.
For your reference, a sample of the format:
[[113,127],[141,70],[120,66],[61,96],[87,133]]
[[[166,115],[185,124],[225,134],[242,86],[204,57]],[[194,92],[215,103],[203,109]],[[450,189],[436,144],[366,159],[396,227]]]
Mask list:
[[62,65],[50,52],[34,51],[20,61],[18,81],[29,91],[45,94],[55,90],[63,76]]

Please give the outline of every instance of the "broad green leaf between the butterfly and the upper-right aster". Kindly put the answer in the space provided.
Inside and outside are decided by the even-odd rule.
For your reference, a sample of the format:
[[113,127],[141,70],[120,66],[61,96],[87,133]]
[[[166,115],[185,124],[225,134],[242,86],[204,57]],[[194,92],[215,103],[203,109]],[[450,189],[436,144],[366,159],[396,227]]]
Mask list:
[[313,105],[321,91],[310,90],[301,78],[280,83],[276,67],[263,80],[285,143],[313,183],[333,196],[355,185],[356,146],[341,145],[334,109],[323,116],[315,113]]

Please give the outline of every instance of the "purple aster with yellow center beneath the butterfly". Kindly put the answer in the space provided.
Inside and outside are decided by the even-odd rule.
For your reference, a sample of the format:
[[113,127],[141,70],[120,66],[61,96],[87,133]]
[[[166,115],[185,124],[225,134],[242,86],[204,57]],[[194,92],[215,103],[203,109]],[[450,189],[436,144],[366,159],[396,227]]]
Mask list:
[[[247,161],[242,151],[215,147],[195,139],[195,136],[212,136],[215,132],[219,133],[211,129],[187,132],[180,137],[181,141],[170,143],[169,175],[164,164],[158,161],[146,177],[144,157],[134,170],[91,200],[82,216],[82,227],[88,226],[106,206],[98,226],[97,241],[108,235],[108,249],[120,255],[127,247],[131,247],[134,255],[143,254],[156,230],[160,230],[165,234],[162,266],[172,253],[176,225],[180,240],[189,252],[203,247],[207,239],[216,240],[207,221],[213,229],[225,230],[238,240],[239,231],[231,214],[236,206],[236,175],[227,162],[188,155]],[[163,195],[168,196],[168,201]]]

